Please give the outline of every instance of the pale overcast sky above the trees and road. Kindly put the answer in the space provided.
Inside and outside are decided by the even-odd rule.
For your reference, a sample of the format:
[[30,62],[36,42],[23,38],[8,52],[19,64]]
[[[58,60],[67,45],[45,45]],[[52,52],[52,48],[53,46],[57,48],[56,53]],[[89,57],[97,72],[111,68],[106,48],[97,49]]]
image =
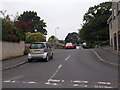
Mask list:
[[0,0],[0,11],[7,10],[6,14],[13,16],[35,11],[46,22],[47,39],[55,35],[64,40],[68,33],[78,32],[89,7],[106,1],[109,0]]

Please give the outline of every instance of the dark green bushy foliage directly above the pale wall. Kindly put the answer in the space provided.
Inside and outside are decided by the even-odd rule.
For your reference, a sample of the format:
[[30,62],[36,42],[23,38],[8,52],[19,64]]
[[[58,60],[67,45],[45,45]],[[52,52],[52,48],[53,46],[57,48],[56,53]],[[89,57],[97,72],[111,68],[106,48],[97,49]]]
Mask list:
[[25,34],[20,29],[16,28],[12,21],[2,19],[2,40],[19,42],[25,39]]

